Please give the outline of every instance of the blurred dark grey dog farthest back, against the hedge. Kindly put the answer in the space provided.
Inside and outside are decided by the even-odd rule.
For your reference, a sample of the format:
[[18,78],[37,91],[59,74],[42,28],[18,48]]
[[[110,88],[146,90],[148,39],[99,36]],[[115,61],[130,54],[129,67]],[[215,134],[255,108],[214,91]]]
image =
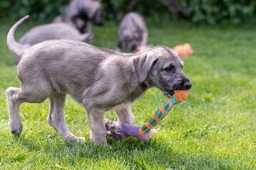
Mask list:
[[53,22],[69,23],[80,30],[81,33],[90,33],[94,37],[91,25],[102,26],[103,7],[97,0],[72,0],[65,9],[63,16],[56,16]]

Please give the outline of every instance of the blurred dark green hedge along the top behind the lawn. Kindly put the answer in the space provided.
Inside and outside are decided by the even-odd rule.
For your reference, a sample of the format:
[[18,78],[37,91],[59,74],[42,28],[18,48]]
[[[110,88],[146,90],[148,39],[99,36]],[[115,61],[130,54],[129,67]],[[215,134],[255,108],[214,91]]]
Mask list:
[[[254,23],[255,0],[100,0],[105,21],[122,18],[127,11],[137,11],[154,22],[189,21],[192,23]],[[52,19],[63,13],[69,0],[1,0],[0,18]]]

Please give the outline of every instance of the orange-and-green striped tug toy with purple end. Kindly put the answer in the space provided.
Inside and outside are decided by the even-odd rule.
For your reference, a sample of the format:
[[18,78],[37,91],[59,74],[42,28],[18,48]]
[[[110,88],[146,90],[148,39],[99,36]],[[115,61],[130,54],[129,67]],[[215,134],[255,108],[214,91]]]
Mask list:
[[151,129],[167,115],[174,105],[182,103],[187,97],[188,91],[174,91],[174,95],[171,96],[171,98],[169,98],[169,100],[166,101],[166,103],[164,103],[153,115],[151,115],[151,118],[149,118],[142,127],[127,125],[126,123],[114,127],[111,125],[111,121],[108,121],[107,123],[105,122],[107,135],[110,135],[117,140],[133,136],[142,139],[144,142],[149,142],[149,138],[156,135],[156,130]]

